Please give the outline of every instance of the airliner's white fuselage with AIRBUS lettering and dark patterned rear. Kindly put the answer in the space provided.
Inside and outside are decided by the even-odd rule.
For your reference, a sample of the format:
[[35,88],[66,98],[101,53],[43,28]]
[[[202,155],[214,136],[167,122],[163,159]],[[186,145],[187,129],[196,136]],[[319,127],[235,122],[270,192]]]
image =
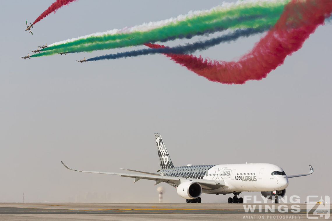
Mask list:
[[[203,188],[202,193],[240,193],[245,191],[275,191],[284,190],[288,179],[284,170],[269,163],[248,164],[218,164],[205,166],[176,167],[160,171],[163,175],[176,177],[198,178],[203,180],[223,181],[225,186],[218,189]],[[174,174],[174,171],[177,171]],[[188,171],[188,172],[187,172]],[[285,175],[271,175],[277,171]],[[196,173],[196,174],[195,174]]]

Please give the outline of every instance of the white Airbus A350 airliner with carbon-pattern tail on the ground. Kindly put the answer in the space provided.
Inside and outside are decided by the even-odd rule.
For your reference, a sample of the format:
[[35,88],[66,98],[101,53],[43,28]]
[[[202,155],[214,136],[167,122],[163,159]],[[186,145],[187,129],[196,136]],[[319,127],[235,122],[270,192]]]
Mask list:
[[154,180],[154,185],[164,182],[175,187],[177,193],[185,198],[187,203],[201,203],[202,193],[217,195],[231,193],[234,196],[228,198],[228,203],[243,203],[243,198],[237,197],[242,192],[261,192],[264,197],[278,203],[278,199],[284,197],[286,193],[289,178],[308,176],[313,173],[313,168],[309,165],[310,170],[307,174],[286,175],[282,168],[270,163],[196,166],[188,164],[174,167],[161,135],[159,133],[154,135],[160,162],[160,170],[156,173],[129,169],[123,170],[135,173],[74,170],[67,167],[62,161],[61,163],[65,168],[78,172],[134,178],[134,183],[140,179]]

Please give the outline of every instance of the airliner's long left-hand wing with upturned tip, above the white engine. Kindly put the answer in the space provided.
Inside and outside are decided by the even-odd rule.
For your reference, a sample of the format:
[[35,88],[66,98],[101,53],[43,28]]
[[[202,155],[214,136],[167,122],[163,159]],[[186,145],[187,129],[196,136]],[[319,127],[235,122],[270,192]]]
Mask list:
[[[62,161],[62,165],[69,169],[69,170],[74,170],[69,167],[67,167]],[[152,175],[152,174],[129,174],[129,173],[113,173],[113,172],[99,172],[99,171],[87,171],[87,170],[74,170],[78,172],[83,172],[83,173],[99,173],[99,174],[109,174],[109,175],[118,175],[121,177],[130,177],[134,178],[134,182],[137,182],[140,179],[144,180],[154,180],[155,184],[157,185],[161,182],[165,183],[172,183],[175,185],[180,185],[180,183],[186,182],[186,181],[194,181],[199,184],[201,184],[203,189],[218,189],[220,187],[225,186],[225,182],[221,180],[203,180],[203,179],[193,179],[193,178],[182,178],[182,177],[168,177],[168,176],[161,176],[161,175]]]

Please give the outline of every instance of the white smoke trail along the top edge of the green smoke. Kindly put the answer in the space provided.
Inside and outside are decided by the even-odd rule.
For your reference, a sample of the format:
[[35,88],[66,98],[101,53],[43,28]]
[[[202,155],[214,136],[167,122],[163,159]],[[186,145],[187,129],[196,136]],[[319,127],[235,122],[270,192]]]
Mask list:
[[218,11],[218,12],[226,11],[233,7],[239,7],[241,5],[244,7],[246,7],[246,6],[248,7],[248,5],[250,5],[250,4],[260,5],[260,4],[264,4],[267,2],[285,2],[285,1],[288,1],[288,0],[238,0],[235,3],[223,2],[221,5],[213,7],[209,10],[190,11],[186,15],[179,15],[176,18],[170,18],[170,19],[166,19],[166,20],[162,20],[162,21],[158,21],[158,22],[143,23],[142,25],[136,25],[136,26],[129,27],[129,28],[128,27],[125,27],[122,29],[115,28],[112,30],[104,31],[104,32],[96,32],[93,34],[88,34],[88,35],[79,36],[79,37],[75,37],[75,38],[68,38],[67,40],[52,43],[49,46],[64,44],[67,42],[72,42],[72,41],[76,41],[76,40],[84,39],[84,38],[88,38],[88,37],[112,35],[112,34],[119,34],[119,33],[132,33],[134,31],[149,31],[154,28],[160,28],[160,27],[169,25],[171,23],[175,24],[177,22],[184,21],[186,19],[190,19],[190,18],[193,18],[196,16],[204,16],[204,15],[207,15],[214,11]]

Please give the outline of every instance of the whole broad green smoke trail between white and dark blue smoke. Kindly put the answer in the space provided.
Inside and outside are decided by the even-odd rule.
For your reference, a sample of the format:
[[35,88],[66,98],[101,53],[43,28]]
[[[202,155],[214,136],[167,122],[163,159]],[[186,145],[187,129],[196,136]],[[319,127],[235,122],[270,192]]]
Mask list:
[[[282,13],[286,2],[288,1],[264,2],[260,5],[252,4],[250,7],[248,7],[248,4],[240,5],[225,11],[212,11],[208,15],[196,16],[149,31],[88,37],[45,48],[42,50],[42,53],[33,55],[33,57],[52,55],[61,51],[90,52],[140,45],[146,42],[156,42],[169,37],[178,38],[181,35],[195,34],[216,28],[254,28],[260,25],[273,25]],[[256,18],[264,18],[252,19],[254,16]],[[135,36],[135,39],[129,41],[128,38],[132,35]]]

